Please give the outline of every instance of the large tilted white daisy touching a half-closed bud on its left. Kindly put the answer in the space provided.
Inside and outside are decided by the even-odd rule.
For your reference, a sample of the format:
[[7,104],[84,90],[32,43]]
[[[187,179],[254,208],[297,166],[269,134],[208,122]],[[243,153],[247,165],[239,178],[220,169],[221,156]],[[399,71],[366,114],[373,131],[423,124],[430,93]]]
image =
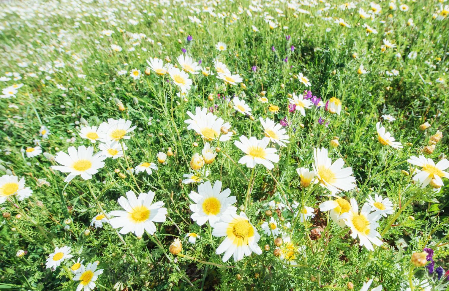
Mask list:
[[317,175],[320,185],[330,190],[333,195],[356,187],[356,178],[351,176],[352,168],[343,168],[343,159],[339,158],[332,163],[325,148],[314,149],[313,157],[313,172]]

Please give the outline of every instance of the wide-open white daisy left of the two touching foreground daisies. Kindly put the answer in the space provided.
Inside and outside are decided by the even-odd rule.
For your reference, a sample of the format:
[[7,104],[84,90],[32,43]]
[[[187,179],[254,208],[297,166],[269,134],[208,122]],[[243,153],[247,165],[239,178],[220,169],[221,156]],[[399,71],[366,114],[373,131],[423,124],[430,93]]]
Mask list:
[[136,197],[133,191],[126,192],[126,197],[121,196],[118,200],[124,210],[114,210],[109,219],[112,228],[121,228],[120,234],[132,232],[136,236],[141,236],[146,230],[153,235],[156,232],[154,222],[164,222],[167,215],[167,208],[164,203],[158,201],[153,203],[154,192],[141,193]]

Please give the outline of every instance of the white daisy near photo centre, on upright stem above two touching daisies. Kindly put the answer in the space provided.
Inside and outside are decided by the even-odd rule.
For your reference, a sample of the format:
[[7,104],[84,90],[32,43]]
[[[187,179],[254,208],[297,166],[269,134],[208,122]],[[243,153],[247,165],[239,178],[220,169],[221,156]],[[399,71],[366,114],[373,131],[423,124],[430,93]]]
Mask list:
[[272,162],[279,162],[279,155],[275,154],[277,152],[275,148],[267,148],[269,142],[268,137],[258,140],[255,137],[248,139],[242,135],[240,141],[234,141],[234,145],[246,154],[238,160],[238,163],[246,164],[248,168],[254,168],[260,163],[269,170],[273,169]]

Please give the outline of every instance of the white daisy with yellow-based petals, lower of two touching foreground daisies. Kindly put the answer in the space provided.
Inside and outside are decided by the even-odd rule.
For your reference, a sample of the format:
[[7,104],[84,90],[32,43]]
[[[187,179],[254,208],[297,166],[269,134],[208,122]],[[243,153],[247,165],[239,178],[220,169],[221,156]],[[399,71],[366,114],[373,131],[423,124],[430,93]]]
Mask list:
[[262,250],[257,245],[260,234],[251,223],[245,213],[224,215],[220,222],[217,222],[212,231],[212,235],[216,237],[225,236],[225,240],[220,243],[216,249],[216,254],[223,256],[223,262],[229,260],[233,255],[234,261],[243,259],[243,256],[251,256],[254,251],[257,255],[262,253]]

